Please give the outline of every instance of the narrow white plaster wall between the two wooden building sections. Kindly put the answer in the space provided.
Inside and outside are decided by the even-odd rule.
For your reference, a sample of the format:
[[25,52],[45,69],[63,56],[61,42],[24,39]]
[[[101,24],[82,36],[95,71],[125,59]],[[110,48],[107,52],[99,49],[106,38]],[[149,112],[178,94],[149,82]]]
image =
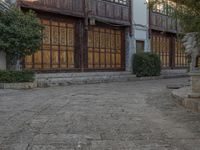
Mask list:
[[132,71],[132,56],[136,53],[136,40],[145,42],[149,51],[149,10],[146,0],[132,0],[132,35],[126,32],[126,71]]

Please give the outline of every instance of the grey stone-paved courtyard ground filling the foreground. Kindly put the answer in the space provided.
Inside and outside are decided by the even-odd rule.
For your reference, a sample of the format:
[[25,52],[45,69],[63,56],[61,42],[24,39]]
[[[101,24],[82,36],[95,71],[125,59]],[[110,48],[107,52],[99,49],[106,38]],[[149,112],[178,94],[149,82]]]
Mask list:
[[166,89],[180,82],[0,90],[0,150],[200,150],[200,114]]

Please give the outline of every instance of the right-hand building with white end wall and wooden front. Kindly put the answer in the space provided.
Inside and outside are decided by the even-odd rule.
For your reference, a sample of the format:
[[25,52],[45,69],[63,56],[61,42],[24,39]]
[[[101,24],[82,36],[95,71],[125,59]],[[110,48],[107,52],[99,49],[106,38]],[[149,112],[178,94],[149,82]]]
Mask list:
[[158,54],[163,69],[186,68],[188,59],[179,38],[181,28],[172,18],[176,3],[165,0],[165,4],[149,8],[147,0],[132,1],[133,53]]

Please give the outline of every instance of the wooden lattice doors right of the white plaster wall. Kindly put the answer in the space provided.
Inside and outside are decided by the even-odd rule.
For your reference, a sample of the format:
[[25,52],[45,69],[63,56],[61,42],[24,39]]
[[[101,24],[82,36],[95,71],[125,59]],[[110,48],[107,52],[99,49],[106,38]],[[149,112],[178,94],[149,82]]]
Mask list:
[[188,59],[180,40],[173,35],[152,34],[152,51],[160,56],[163,68],[182,68],[188,66]]

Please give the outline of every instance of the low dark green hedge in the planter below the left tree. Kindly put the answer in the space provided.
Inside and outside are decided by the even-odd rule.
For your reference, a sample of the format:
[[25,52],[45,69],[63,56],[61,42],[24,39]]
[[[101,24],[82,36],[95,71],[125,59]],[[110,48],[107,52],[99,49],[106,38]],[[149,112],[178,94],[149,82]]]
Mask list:
[[35,74],[32,71],[0,71],[0,83],[33,82]]

